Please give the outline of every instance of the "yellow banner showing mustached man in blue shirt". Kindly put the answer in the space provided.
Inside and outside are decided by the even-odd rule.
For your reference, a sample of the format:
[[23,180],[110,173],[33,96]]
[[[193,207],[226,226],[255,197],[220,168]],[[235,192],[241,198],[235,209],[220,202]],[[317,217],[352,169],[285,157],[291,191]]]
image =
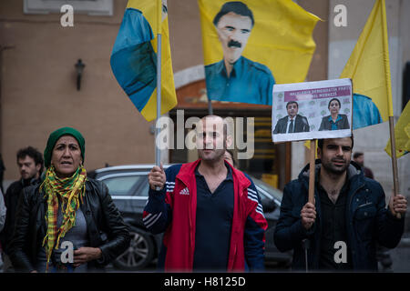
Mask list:
[[211,100],[272,105],[274,84],[304,81],[319,18],[287,0],[199,0]]

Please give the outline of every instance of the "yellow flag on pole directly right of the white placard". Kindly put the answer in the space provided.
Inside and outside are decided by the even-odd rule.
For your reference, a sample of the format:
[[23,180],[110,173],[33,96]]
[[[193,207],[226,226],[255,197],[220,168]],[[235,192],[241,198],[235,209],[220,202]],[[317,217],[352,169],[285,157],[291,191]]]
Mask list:
[[[341,78],[351,78],[354,94],[372,99],[384,121],[393,116],[389,44],[384,0],[377,0],[359,36],[354,51],[344,66]],[[356,109],[361,105],[356,105]],[[355,107],[355,103],[354,103]],[[363,118],[362,112],[356,111]],[[370,114],[370,113],[369,113]],[[354,128],[363,127],[364,123]]]

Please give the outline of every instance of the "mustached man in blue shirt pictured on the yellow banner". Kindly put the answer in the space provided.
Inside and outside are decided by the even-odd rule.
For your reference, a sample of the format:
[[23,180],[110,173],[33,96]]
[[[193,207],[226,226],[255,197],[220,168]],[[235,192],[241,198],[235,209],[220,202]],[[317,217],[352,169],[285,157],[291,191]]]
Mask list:
[[268,104],[275,83],[271,70],[242,55],[255,24],[251,10],[239,1],[227,2],[215,15],[213,24],[223,59],[205,66],[210,99]]

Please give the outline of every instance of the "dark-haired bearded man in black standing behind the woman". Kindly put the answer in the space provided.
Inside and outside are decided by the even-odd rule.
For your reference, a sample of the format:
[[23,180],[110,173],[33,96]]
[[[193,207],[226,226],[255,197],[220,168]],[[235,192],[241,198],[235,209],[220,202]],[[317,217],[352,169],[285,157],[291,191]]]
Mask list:
[[13,271],[8,258],[8,246],[15,230],[15,216],[17,213],[17,203],[21,191],[26,186],[36,185],[40,182],[40,176],[43,171],[43,155],[32,146],[22,148],[16,155],[17,166],[20,172],[20,179],[12,183],[5,192],[5,207],[7,213],[5,217],[5,228],[0,234],[3,248],[3,260],[5,272]]

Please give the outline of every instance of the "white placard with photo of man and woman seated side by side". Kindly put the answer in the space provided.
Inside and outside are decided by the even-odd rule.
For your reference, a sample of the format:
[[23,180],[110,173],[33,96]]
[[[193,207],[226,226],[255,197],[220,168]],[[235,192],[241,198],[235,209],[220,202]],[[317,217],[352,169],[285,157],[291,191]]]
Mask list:
[[272,140],[352,135],[352,80],[335,79],[273,86]]

